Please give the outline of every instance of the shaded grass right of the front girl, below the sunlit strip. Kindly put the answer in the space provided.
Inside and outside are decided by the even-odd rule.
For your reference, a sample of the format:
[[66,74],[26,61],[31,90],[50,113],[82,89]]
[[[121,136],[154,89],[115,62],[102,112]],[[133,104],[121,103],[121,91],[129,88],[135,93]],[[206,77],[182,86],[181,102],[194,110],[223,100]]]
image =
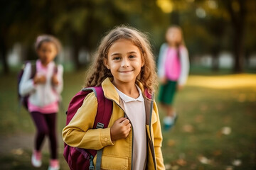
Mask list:
[[[204,89],[187,86],[177,95],[178,121],[164,132],[165,164],[179,169],[255,168],[256,103],[239,101],[236,94],[250,96],[255,89]],[[238,95],[239,96],[239,95]],[[161,116],[163,112],[160,109]],[[231,129],[223,135],[222,129]],[[202,164],[201,157],[210,163]],[[182,159],[183,164],[179,164]]]

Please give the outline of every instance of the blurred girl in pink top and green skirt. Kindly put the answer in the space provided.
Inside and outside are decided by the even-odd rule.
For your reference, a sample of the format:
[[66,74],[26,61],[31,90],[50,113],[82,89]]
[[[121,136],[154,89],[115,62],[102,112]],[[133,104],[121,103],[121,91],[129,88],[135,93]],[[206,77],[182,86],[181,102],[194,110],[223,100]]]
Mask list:
[[158,61],[160,79],[159,102],[164,108],[164,130],[169,130],[177,118],[173,107],[176,91],[181,90],[189,71],[188,50],[179,26],[171,26],[166,31],[166,42],[161,45]]

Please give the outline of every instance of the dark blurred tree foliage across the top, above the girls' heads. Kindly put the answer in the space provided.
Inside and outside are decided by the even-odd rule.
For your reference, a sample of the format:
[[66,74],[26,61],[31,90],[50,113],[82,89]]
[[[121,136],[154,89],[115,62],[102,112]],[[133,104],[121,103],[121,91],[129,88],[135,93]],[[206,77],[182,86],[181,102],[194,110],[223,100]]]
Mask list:
[[[102,35],[121,24],[149,33],[157,57],[166,28],[183,28],[191,64],[210,55],[210,67],[219,68],[219,56],[230,52],[232,71],[245,72],[255,55],[255,0],[1,0],[1,72],[10,72],[8,55],[21,45],[18,60],[36,59],[37,35],[52,34],[63,43],[63,53],[74,69],[90,63]],[[81,53],[87,60],[81,62]],[[255,67],[253,68],[255,69]]]

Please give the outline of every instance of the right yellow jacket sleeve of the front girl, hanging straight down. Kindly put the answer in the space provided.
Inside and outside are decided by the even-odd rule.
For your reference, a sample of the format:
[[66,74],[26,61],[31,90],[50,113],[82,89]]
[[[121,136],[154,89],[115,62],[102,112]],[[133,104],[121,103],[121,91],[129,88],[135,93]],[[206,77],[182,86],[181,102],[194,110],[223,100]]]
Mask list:
[[161,144],[163,141],[163,136],[161,134],[161,123],[159,119],[159,113],[157,110],[156,102],[154,102],[154,111],[156,112],[157,121],[153,124],[154,132],[154,150],[156,155],[156,168],[158,170],[165,169],[163,154],[161,152]]

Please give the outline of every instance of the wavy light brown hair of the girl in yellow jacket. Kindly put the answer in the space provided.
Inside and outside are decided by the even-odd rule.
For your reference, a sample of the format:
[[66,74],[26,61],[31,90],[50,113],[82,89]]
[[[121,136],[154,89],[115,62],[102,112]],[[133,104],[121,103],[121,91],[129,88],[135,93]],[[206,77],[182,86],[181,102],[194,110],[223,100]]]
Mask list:
[[130,40],[139,48],[142,54],[142,61],[144,61],[144,66],[142,67],[137,80],[143,84],[144,89],[148,89],[150,93],[154,92],[154,86],[157,84],[157,79],[155,71],[156,64],[154,55],[151,52],[151,45],[146,34],[128,26],[118,26],[113,30],[110,30],[110,32],[102,38],[95,54],[95,61],[87,72],[85,86],[100,86],[104,79],[113,77],[110,70],[105,67],[104,61],[107,60],[110,47],[114,42],[120,39]]

